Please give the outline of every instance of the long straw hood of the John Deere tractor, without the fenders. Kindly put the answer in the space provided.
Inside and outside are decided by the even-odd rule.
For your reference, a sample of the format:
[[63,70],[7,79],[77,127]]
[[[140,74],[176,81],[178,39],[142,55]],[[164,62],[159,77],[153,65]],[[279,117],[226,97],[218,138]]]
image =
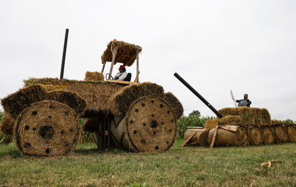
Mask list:
[[[24,82],[25,86],[31,84],[65,86],[63,90],[75,92],[86,101],[86,111],[102,112],[105,114],[110,112],[107,105],[109,98],[123,88],[117,84],[104,83],[101,81],[60,80],[58,78],[31,78],[29,80],[24,80]],[[54,89],[47,90],[52,91]]]

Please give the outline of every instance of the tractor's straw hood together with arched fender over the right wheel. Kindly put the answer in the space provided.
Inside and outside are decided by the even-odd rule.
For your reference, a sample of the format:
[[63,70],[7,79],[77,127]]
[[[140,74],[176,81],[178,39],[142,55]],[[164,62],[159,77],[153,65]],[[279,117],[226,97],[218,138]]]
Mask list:
[[[79,81],[58,78],[30,78],[24,81],[24,87],[33,84],[64,86],[65,91],[77,93],[86,101],[85,111],[114,115],[123,115],[130,104],[143,96],[157,96],[165,99],[179,119],[183,115],[183,106],[171,92],[165,93],[162,86],[155,83],[142,83],[138,85],[119,86],[103,81]],[[47,92],[56,90],[46,88]]]

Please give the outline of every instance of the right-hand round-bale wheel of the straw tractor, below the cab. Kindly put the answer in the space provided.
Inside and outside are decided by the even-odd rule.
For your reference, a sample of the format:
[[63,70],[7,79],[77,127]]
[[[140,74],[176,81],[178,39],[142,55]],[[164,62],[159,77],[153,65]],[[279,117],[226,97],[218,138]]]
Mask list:
[[125,117],[114,119],[111,125],[113,142],[127,150],[165,151],[175,142],[176,117],[170,105],[161,98],[141,97],[131,104]]

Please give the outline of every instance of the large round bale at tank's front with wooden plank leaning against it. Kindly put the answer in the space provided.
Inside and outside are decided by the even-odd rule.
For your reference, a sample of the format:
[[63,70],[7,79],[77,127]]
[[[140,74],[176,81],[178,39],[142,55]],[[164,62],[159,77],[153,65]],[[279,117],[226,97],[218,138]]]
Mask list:
[[[226,147],[226,146],[246,146],[249,145],[249,137],[247,128],[240,125],[227,125],[224,127],[231,127],[237,129],[236,132],[218,129],[216,134],[216,141],[214,146]],[[215,129],[209,132],[208,143],[211,144]]]

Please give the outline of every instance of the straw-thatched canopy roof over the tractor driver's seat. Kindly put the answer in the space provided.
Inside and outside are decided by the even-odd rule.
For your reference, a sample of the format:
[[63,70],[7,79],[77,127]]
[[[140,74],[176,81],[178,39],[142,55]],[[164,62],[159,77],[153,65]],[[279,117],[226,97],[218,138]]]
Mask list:
[[[129,44],[124,41],[110,41],[107,45],[107,49],[101,56],[102,64],[105,62],[112,62],[112,49],[117,47],[117,53],[115,56],[114,64],[117,62],[123,63],[125,66],[131,66],[137,58],[137,53],[142,51],[142,47],[134,44]],[[115,50],[116,51],[116,50]]]

